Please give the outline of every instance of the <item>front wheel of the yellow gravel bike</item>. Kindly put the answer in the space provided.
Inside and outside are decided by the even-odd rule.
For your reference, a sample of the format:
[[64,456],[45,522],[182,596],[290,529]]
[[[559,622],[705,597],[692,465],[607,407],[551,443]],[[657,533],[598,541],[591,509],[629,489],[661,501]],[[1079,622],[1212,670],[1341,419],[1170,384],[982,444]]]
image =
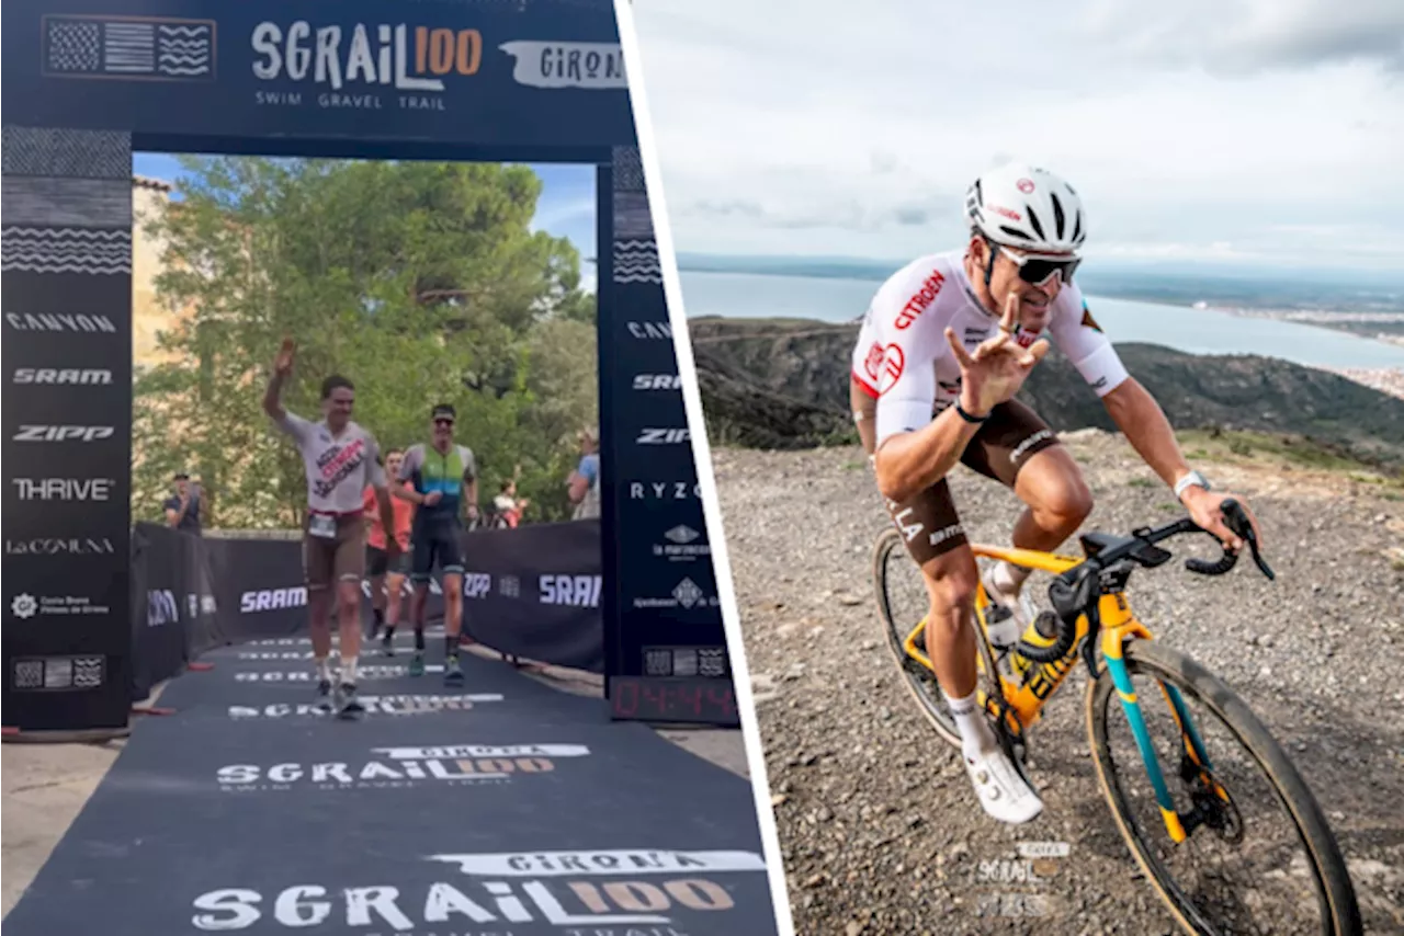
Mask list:
[[[1175,650],[1130,640],[1125,661],[1175,810],[1198,827],[1191,820],[1189,836],[1171,841],[1105,661],[1087,690],[1092,761],[1126,843],[1179,925],[1205,936],[1362,932],[1335,836],[1262,721]],[[1186,754],[1163,685],[1184,699],[1223,794]]]

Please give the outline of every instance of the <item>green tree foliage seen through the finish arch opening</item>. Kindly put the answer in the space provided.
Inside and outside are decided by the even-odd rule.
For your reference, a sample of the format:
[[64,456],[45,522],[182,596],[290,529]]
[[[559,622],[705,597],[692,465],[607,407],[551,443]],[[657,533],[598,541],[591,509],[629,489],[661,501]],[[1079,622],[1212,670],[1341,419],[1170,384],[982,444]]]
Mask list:
[[594,296],[569,240],[532,232],[526,167],[181,157],[184,201],[142,219],[166,243],[157,302],[187,310],[160,335],[173,363],[136,377],[133,512],[159,514],[194,466],[206,523],[300,521],[302,460],[261,408],[284,335],[284,403],[319,418],[323,377],[355,383],[354,418],[382,449],[458,410],[480,497],[521,466],[528,516],[569,515],[574,434],[597,420]]

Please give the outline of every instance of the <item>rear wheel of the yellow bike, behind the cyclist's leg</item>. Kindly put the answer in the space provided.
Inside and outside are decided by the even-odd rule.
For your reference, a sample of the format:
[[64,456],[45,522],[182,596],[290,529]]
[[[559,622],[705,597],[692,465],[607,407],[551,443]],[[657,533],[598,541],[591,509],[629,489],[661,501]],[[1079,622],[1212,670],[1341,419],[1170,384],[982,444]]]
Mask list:
[[941,695],[935,674],[913,660],[904,647],[907,634],[925,617],[929,599],[921,568],[907,551],[901,535],[892,528],[885,529],[873,544],[873,594],[878,596],[878,615],[887,648],[903,683],[936,734],[959,751],[960,733],[945,696]]

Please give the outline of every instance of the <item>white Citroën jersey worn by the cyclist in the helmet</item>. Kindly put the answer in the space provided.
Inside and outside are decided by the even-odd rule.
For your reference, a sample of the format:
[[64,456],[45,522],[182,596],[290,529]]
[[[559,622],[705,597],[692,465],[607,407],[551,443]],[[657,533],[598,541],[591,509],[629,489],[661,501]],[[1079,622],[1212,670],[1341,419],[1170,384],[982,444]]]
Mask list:
[[[893,274],[868,306],[852,361],[854,380],[878,400],[878,445],[920,429],[960,399],[960,365],[945,330],[974,351],[998,324],[974,296],[963,248],[921,257]],[[1059,290],[1047,330],[1098,397],[1126,380],[1120,356],[1075,285]],[[1028,348],[1039,337],[1021,331],[1015,341]]]

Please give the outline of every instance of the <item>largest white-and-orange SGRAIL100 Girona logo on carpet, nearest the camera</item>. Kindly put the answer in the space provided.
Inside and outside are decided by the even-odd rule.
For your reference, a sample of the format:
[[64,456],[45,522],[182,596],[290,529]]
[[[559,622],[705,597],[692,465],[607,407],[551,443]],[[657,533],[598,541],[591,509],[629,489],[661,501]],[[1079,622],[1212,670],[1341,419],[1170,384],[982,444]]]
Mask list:
[[270,923],[296,932],[329,923],[396,936],[487,936],[512,932],[512,923],[536,923],[563,928],[563,936],[684,936],[689,923],[706,918],[716,919],[708,932],[744,932],[753,921],[712,915],[736,909],[740,881],[754,881],[757,904],[767,892],[765,862],[754,852],[637,849],[425,860],[445,878],[451,869],[461,877],[399,887],[225,888],[197,897],[191,922],[205,932],[258,923],[260,932],[274,932]]

